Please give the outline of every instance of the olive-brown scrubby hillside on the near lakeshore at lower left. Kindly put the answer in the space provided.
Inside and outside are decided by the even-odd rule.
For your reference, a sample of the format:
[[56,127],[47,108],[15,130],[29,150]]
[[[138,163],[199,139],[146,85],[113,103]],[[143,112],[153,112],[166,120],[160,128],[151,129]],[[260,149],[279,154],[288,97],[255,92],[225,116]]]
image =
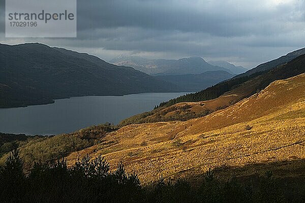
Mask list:
[[20,150],[24,166],[28,169],[35,162],[49,163],[71,152],[91,147],[99,143],[105,134],[116,129],[115,126],[105,123],[56,136],[25,136],[0,132],[0,166],[15,148]]

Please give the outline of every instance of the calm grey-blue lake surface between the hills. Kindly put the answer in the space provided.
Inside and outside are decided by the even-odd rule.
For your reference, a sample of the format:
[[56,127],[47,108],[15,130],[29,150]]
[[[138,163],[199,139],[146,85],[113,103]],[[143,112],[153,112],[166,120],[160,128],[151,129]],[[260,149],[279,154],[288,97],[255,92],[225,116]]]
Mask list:
[[105,122],[117,124],[184,94],[186,92],[83,96],[56,99],[49,105],[0,109],[0,132],[47,135],[73,132]]

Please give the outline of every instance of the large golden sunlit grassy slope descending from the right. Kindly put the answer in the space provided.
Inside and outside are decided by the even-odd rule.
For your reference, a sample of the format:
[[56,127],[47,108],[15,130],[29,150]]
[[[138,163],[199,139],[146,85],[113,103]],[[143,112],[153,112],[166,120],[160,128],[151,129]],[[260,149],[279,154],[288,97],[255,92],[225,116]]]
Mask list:
[[198,174],[208,167],[305,158],[305,74],[279,80],[224,110],[186,122],[134,124],[68,156],[123,161],[141,181]]

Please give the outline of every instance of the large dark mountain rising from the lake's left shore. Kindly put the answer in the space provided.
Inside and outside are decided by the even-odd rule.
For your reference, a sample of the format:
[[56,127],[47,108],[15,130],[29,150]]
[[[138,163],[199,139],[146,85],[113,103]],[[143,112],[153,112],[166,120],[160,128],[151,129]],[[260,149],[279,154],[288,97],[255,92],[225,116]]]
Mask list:
[[178,91],[132,67],[43,44],[0,44],[0,107],[53,103],[55,98]]

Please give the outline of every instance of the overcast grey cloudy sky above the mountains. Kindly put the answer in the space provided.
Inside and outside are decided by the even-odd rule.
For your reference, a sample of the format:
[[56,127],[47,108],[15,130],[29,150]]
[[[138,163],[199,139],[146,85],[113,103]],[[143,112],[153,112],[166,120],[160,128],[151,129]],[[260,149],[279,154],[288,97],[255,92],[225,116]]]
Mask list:
[[106,61],[201,56],[252,68],[305,47],[305,0],[82,0],[75,39],[5,38],[1,13],[1,43],[40,42]]

